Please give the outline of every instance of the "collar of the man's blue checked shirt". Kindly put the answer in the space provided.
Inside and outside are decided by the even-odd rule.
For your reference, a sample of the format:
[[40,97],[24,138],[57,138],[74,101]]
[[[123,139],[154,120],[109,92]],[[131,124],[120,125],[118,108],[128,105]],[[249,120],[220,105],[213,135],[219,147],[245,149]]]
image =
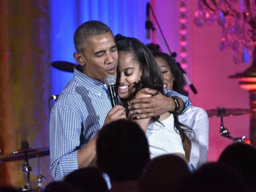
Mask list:
[[84,85],[87,89],[90,89],[96,93],[102,93],[107,89],[106,84],[91,79],[90,77],[82,73],[81,65],[76,65],[74,68],[74,80]]

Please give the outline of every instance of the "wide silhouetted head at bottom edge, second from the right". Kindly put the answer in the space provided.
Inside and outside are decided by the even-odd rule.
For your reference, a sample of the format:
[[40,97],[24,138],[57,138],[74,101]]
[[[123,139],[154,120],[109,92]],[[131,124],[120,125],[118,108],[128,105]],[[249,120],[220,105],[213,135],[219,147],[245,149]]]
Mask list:
[[249,192],[248,186],[232,166],[208,163],[186,177],[176,192]]

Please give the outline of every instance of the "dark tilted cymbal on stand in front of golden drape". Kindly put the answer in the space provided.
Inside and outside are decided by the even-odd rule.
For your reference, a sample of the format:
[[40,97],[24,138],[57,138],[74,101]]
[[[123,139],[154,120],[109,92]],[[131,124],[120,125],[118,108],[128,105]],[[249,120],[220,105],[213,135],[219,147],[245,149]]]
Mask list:
[[50,154],[49,148],[23,148],[14,151],[10,154],[0,155],[0,163],[5,163],[9,161],[25,160],[25,152],[27,153],[28,159],[43,157]]

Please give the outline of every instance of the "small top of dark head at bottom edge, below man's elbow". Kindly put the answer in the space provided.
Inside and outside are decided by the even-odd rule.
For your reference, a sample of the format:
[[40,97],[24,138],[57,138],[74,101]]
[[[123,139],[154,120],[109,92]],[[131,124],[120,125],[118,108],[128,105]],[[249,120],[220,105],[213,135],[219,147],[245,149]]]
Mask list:
[[46,188],[44,189],[44,192],[80,192],[79,190],[76,190],[68,183],[64,182],[52,182],[49,183]]

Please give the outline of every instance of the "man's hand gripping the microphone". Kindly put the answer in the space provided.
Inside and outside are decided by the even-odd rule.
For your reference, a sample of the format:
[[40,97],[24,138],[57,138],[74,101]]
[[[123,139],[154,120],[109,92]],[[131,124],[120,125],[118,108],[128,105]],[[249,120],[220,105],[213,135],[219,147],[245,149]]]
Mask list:
[[126,119],[125,108],[122,105],[116,105],[108,112],[103,126],[119,119]]

